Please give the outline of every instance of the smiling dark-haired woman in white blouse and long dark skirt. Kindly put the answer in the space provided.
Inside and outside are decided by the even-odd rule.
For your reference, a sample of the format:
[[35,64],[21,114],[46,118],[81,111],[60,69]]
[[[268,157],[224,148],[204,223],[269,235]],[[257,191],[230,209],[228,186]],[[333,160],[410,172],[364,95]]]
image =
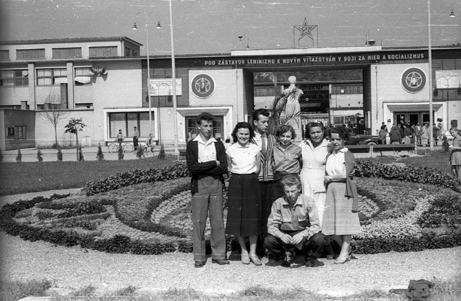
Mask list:
[[[235,235],[242,248],[242,264],[262,265],[256,254],[256,242],[262,232],[262,207],[258,174],[261,148],[249,141],[253,130],[248,122],[239,122],[232,132],[234,143],[226,150],[231,173],[228,187],[228,211],[225,233]],[[246,236],[249,236],[248,252]]]

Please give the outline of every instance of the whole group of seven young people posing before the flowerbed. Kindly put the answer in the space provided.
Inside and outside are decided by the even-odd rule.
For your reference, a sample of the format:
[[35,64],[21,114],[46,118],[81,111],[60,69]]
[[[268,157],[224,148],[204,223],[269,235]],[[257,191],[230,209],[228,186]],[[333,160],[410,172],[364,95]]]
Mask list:
[[[296,250],[306,266],[325,256],[332,260],[331,237],[341,246],[335,263],[352,257],[352,234],[360,233],[357,189],[353,181],[354,155],[344,147],[349,133],[331,129],[324,137],[322,123],[307,124],[307,139],[299,145],[290,125],[275,136],[267,133],[270,113],[256,110],[253,124],[239,122],[227,149],[213,138],[212,114],[197,118],[199,135],[189,141],[186,159],[192,173],[192,218],[195,267],[206,263],[205,225],[209,212],[212,263],[229,264],[225,235],[236,236],[242,264],[262,265],[258,240],[273,260],[289,267]],[[223,214],[223,175],[228,173],[228,212]],[[249,238],[249,248],[247,240]]]

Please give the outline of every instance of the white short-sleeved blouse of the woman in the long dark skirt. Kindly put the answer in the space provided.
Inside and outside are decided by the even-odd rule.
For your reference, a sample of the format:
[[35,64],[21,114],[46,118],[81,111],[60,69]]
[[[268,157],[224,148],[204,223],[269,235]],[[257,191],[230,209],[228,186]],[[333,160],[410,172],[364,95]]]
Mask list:
[[226,150],[226,154],[231,157],[231,172],[241,175],[256,172],[256,155],[260,150],[259,146],[250,142],[244,147],[238,142],[232,144]]

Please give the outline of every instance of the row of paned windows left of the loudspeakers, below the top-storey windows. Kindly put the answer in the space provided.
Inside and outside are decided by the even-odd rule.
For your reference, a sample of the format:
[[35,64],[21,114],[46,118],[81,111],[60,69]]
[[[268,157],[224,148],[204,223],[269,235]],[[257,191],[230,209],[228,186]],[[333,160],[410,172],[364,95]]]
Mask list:
[[[67,68],[44,68],[36,69],[37,85],[59,85],[67,83]],[[76,67],[75,84],[91,83],[92,71],[89,67]],[[0,86],[28,86],[29,71],[19,70],[0,70]]]

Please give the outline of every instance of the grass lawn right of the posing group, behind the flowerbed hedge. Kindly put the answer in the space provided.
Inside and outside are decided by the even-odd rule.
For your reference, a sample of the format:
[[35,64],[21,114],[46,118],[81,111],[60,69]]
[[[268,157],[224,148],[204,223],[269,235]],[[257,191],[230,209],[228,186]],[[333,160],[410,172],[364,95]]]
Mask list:
[[440,169],[443,172],[451,173],[450,165],[450,152],[443,152],[443,150],[436,150],[431,154],[426,154],[423,157],[405,157],[405,158],[393,158],[393,157],[375,157],[375,158],[360,158],[360,161],[373,161],[378,163],[405,163],[411,166],[420,167],[432,167]]

